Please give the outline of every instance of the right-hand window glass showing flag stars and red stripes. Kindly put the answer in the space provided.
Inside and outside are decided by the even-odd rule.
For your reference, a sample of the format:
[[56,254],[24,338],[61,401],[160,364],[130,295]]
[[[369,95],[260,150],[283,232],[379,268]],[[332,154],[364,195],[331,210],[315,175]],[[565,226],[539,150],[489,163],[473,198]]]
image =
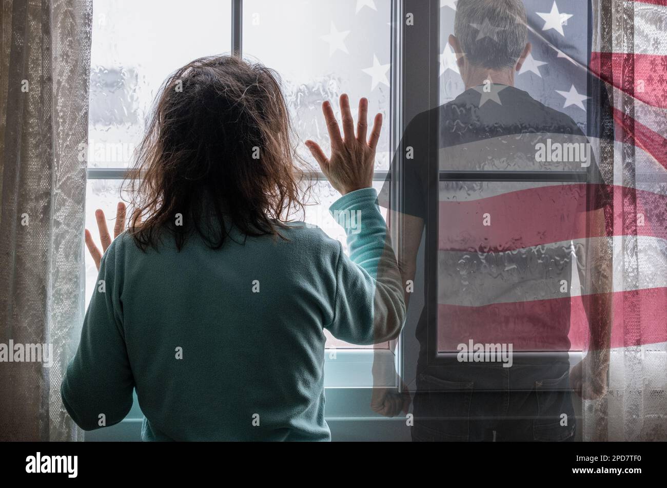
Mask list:
[[[514,71],[513,86],[478,77],[466,89],[450,45],[455,16],[466,14],[456,1],[441,2],[438,170],[441,177],[456,170],[479,175],[476,182],[441,178],[434,199],[441,352],[470,340],[568,350],[570,326],[582,320],[572,299],[580,293],[573,252],[586,236],[586,185],[485,176],[576,171],[599,181],[594,147],[584,136],[588,3],[557,3],[524,1],[532,49]],[[457,33],[459,50],[478,66],[511,59],[512,33],[520,28],[502,15],[468,17]]]

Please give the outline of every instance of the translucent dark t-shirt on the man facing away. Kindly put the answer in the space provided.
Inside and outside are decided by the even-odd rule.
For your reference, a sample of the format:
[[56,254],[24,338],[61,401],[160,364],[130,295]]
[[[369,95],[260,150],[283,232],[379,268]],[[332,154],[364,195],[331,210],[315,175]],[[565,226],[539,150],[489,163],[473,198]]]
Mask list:
[[[431,329],[437,334],[428,338],[422,312],[420,358],[427,340],[437,340],[442,352],[469,340],[512,343],[515,351],[570,349],[573,260],[596,237],[587,214],[607,198],[594,151],[568,115],[520,89],[489,88],[468,89],[417,115],[393,163],[403,168],[403,207],[389,202],[389,184],[380,193],[382,206],[438,228],[426,232],[438,236],[430,242],[437,252],[426,262],[438,266],[438,325]],[[582,178],[484,181],[480,173],[479,181],[440,181],[454,171],[579,172]]]

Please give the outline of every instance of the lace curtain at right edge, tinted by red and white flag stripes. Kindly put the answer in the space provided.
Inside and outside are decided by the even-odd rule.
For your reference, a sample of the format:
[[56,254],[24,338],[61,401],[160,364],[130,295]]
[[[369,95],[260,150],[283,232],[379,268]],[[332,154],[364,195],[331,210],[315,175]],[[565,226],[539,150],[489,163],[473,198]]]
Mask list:
[[[616,120],[602,128],[607,137],[600,138],[600,169],[614,183],[615,326],[608,393],[584,402],[584,440],[665,441],[667,146],[652,142],[667,137],[667,126],[657,93],[644,89],[656,90],[652,75],[667,77],[667,63],[658,61],[667,48],[667,9],[598,0],[593,12],[592,49],[603,53],[600,71],[616,110]],[[636,64],[638,53],[656,59],[652,73]]]

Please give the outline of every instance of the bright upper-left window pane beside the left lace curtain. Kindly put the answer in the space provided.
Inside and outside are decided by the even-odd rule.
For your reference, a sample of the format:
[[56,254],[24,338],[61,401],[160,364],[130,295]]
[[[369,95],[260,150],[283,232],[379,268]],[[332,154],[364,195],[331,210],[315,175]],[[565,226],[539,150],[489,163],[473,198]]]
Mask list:
[[159,87],[231,50],[231,0],[93,0],[88,166],[131,166]]

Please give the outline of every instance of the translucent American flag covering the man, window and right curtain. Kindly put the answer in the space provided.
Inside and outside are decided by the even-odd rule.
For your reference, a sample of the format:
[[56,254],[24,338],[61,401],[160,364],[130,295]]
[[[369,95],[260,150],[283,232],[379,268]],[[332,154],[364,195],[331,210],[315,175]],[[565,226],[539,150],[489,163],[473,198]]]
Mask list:
[[[474,360],[468,351],[476,344],[511,344],[543,358],[588,352],[608,360],[610,395],[585,410],[584,439],[662,439],[667,2],[525,0],[525,19],[516,21],[526,25],[532,49],[513,83],[489,70],[476,78],[477,68],[460,62],[463,56],[474,65],[498,43],[512,42],[500,17],[479,17],[470,5],[441,2],[440,105],[412,120],[400,147],[415,153],[404,164],[403,211],[422,218],[431,236],[425,274],[437,267],[437,283],[427,280],[437,288],[436,312],[422,312],[416,326],[416,417],[438,417],[428,395],[452,381],[460,401],[468,398],[461,385],[514,388],[500,377],[494,383],[496,373],[446,373],[442,362],[436,370],[434,351],[438,358],[464,351]],[[472,37],[462,27],[466,15]],[[458,45],[466,35],[468,45]],[[420,156],[430,144],[424,134],[435,127],[437,162]],[[437,232],[428,232],[434,216]],[[543,371],[534,369],[530,381],[542,385]],[[566,373],[549,375],[556,389],[568,388]],[[486,399],[501,403],[500,396]],[[485,408],[480,417],[502,415]],[[424,421],[419,436],[474,435],[462,433],[458,420],[438,422]]]

